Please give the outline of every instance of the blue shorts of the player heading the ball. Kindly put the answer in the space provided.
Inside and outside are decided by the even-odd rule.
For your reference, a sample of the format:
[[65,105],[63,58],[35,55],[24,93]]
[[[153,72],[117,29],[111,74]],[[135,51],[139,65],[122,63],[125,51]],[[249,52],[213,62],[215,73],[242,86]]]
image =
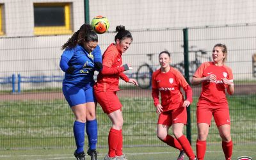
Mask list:
[[70,84],[63,84],[62,92],[70,107],[87,102],[96,102],[93,87],[89,85],[81,88]]

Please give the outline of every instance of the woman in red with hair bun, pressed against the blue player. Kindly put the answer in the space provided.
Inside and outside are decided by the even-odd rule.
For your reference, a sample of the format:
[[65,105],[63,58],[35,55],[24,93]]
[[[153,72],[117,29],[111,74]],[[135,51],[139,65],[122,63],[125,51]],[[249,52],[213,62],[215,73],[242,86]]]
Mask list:
[[127,83],[138,85],[135,79],[129,79],[123,72],[129,70],[130,65],[122,65],[122,54],[129,48],[132,35],[124,26],[116,26],[115,44],[109,45],[102,55],[102,71],[97,76],[94,86],[95,97],[112,122],[108,135],[109,151],[105,156],[108,159],[127,159],[122,151],[123,136],[122,104],[116,95],[119,90],[119,77]]

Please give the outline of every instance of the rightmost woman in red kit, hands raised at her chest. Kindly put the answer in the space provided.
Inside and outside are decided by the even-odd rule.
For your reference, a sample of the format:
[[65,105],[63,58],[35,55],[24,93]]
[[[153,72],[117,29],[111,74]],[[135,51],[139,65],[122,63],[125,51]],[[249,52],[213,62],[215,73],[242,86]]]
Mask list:
[[231,159],[233,143],[230,136],[230,117],[225,90],[234,93],[232,70],[225,65],[227,47],[216,44],[212,49],[211,62],[205,62],[196,70],[191,84],[202,83],[202,92],[196,108],[198,138],[196,154],[204,159],[206,139],[211,125],[212,115],[220,132],[222,148],[226,159]]

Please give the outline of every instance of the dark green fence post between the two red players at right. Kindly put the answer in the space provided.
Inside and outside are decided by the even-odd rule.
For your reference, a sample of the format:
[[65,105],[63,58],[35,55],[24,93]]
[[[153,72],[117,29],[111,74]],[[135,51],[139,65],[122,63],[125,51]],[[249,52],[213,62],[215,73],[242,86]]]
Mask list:
[[[188,28],[183,29],[183,45],[184,45],[184,68],[185,68],[185,78],[188,84],[189,81],[189,58],[188,58]],[[191,144],[191,116],[190,116],[190,106],[187,108],[188,124],[186,125],[187,129],[187,138]]]

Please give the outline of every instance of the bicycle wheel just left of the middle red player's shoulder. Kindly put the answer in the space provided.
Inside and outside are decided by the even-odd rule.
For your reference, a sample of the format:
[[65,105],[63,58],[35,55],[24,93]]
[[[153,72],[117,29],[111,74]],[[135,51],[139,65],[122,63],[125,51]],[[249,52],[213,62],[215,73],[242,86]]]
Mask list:
[[136,79],[140,88],[146,89],[151,86],[153,70],[148,64],[141,65],[136,73]]

